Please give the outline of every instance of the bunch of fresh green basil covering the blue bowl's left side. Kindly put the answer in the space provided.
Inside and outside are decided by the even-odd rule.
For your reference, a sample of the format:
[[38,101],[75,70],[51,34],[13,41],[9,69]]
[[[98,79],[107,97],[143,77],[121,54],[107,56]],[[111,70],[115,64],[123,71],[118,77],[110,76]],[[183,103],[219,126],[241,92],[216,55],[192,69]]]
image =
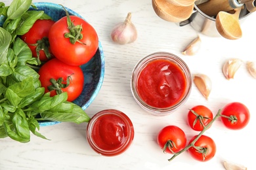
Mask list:
[[50,97],[41,87],[39,75],[32,66],[28,45],[19,38],[38,19],[49,19],[43,11],[28,10],[32,0],[14,0],[9,7],[0,2],[0,138],[11,137],[21,143],[30,141],[30,131],[37,137],[39,121],[89,122],[81,107],[66,101],[67,93]]

